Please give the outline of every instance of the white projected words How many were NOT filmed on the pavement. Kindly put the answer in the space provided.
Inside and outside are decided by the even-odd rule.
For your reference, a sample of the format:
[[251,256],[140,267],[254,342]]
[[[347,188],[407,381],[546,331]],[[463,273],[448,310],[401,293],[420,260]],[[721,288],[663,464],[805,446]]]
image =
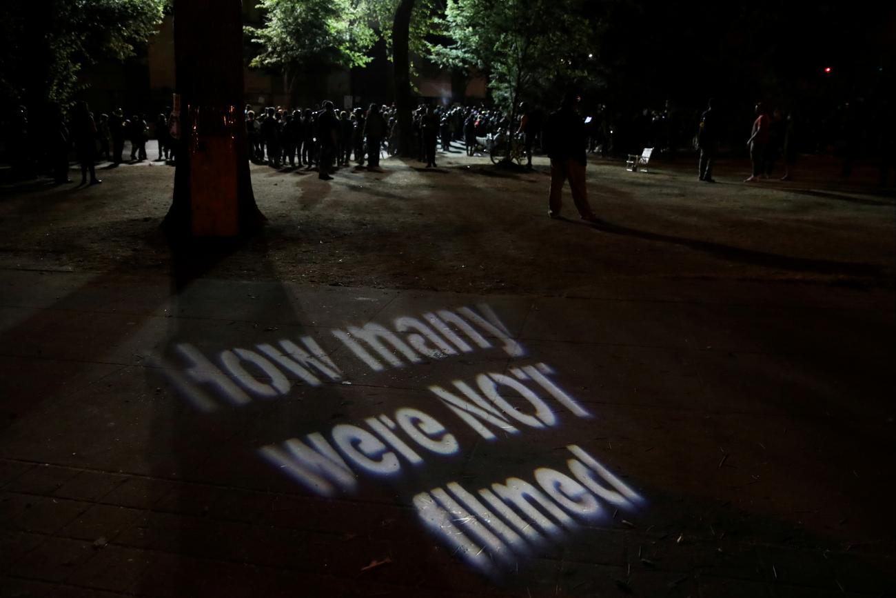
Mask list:
[[[593,417],[556,381],[554,368],[527,359],[521,343],[487,305],[401,316],[389,324],[330,332],[357,360],[354,367],[363,364],[371,372],[495,349],[503,351],[509,366],[427,385],[432,401],[425,405],[375,412],[257,447],[265,461],[314,494],[351,495],[366,478],[398,481],[428,464],[450,463],[470,448],[462,446],[462,438],[468,444],[471,438],[530,442],[564,420]],[[276,401],[301,385],[349,384],[345,368],[312,336],[216,355],[183,342],[172,352],[180,363],[163,364],[165,371],[202,412]],[[637,492],[581,446],[568,443],[564,450],[564,468],[535,466],[475,489],[449,477],[435,488],[430,484],[412,492],[409,503],[431,533],[484,573],[580,523],[599,523],[616,509],[642,505]]]

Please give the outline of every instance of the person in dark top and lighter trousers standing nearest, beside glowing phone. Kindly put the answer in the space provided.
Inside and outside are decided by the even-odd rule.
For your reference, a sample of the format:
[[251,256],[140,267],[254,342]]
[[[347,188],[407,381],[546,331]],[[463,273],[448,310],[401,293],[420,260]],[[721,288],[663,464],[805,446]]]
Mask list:
[[585,166],[588,160],[585,148],[588,143],[585,124],[576,106],[579,96],[567,93],[560,109],[551,113],[545,126],[545,145],[551,160],[551,188],[547,198],[547,215],[560,216],[563,186],[569,179],[573,192],[573,202],[582,220],[598,221],[588,203],[588,189],[585,186]]

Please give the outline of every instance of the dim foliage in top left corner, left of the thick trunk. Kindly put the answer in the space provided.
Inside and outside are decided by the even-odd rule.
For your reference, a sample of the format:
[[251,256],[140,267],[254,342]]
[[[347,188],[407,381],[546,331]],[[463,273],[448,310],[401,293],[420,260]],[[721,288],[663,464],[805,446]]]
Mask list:
[[83,65],[134,56],[168,0],[5,0],[0,5],[0,94],[29,103],[72,100]]

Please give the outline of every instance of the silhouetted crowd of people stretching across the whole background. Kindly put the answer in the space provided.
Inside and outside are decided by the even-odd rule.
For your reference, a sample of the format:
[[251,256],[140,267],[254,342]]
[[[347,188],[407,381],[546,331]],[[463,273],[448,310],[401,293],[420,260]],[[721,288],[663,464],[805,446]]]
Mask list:
[[[614,113],[602,104],[591,105],[580,108],[579,114],[588,152],[609,157],[652,147],[655,154],[671,159],[681,150],[696,150],[700,155],[699,178],[714,182],[712,167],[719,146],[734,145],[742,134],[737,129],[745,130],[745,126],[733,123],[730,110],[725,108],[710,105],[702,112],[685,111],[666,101],[661,108],[626,113]],[[393,105],[372,103],[367,108],[339,110],[330,101],[308,108],[246,105],[244,117],[249,159],[275,169],[315,169],[320,178],[326,179],[335,169],[352,162],[357,168],[379,169],[383,153],[398,151]],[[768,109],[760,103],[747,136],[753,169],[746,180],[793,178],[798,152],[835,152],[842,159],[840,175],[849,177],[857,154],[864,148],[876,152],[875,157],[881,160],[883,184],[891,168],[894,135],[892,116],[889,125],[879,120],[867,118],[866,110],[856,103],[844,104],[823,125],[819,119],[801,117],[793,110]],[[40,114],[31,122],[27,109],[19,107],[5,123],[6,153],[20,175],[50,174],[56,182],[65,183],[70,180],[67,163],[74,152],[82,166],[82,184],[99,184],[95,165],[104,160],[110,166],[123,163],[128,157],[126,142],[130,143],[131,162],[149,160],[146,144],[155,138],[159,148],[155,160],[175,163],[173,121],[171,108],[159,111],[150,120],[142,113],[125,117],[122,108],[97,116],[81,102],[67,115],[60,108],[52,108],[49,118]],[[421,103],[412,113],[410,142],[418,160],[426,163],[426,168],[435,168],[440,147],[443,152],[452,152],[455,147],[461,152],[465,147],[467,155],[473,156],[487,152],[493,140],[510,132],[524,140],[524,153],[531,166],[532,153],[546,149],[542,143],[546,124],[547,112],[530,108],[525,102],[514,109],[513,116],[485,104]]]

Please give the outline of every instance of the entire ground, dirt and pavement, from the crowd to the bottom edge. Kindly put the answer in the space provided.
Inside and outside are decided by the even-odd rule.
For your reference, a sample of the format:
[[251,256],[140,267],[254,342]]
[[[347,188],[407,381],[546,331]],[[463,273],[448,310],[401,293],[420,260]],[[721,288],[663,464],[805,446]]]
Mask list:
[[[871,169],[804,159],[796,182],[745,184],[725,160],[711,185],[685,157],[592,157],[592,226],[568,188],[547,217],[543,157],[438,163],[330,182],[255,165],[263,233],[175,252],[160,162],[0,187],[0,594],[893,595],[896,196]],[[411,342],[410,323],[468,313],[504,332],[476,316],[470,351]],[[389,360],[390,337],[420,354]],[[304,369],[323,356],[335,375]],[[487,438],[455,392],[507,425],[477,409]],[[451,431],[450,455],[432,427],[428,448],[380,431],[409,409]],[[284,475],[273,457],[361,425],[425,463],[402,453],[392,475],[340,445],[358,485],[325,496],[312,476],[342,483],[336,461]],[[572,446],[638,506],[562,473]],[[554,467],[576,486],[541,481]],[[529,480],[564,502],[541,515],[497,490]],[[462,494],[488,489],[500,516]],[[461,529],[479,544],[461,552]]]

